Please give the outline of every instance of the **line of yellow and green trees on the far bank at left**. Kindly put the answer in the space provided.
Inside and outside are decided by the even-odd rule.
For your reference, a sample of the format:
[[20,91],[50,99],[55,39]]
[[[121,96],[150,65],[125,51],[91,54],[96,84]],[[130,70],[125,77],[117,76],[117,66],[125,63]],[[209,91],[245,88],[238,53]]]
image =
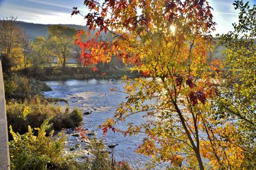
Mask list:
[[[69,58],[75,58],[78,66],[81,50],[75,46],[77,30],[62,25],[50,25],[47,37],[37,36],[34,40],[24,33],[17,18],[10,16],[0,21],[0,52],[13,61],[13,70],[26,67],[52,67],[54,58],[61,67],[66,67]],[[83,36],[87,41],[88,36]],[[58,66],[57,65],[57,66]]]

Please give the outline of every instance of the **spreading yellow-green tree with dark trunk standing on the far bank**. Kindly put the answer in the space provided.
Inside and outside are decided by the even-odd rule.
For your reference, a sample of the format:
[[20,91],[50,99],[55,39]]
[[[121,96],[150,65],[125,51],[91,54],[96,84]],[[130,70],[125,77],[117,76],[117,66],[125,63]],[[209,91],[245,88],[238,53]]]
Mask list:
[[62,67],[65,67],[67,61],[67,50],[72,46],[77,30],[61,25],[52,25],[48,27],[48,32],[49,36],[52,36],[52,38],[55,38],[60,42],[61,53],[58,55],[60,56],[59,58]]

